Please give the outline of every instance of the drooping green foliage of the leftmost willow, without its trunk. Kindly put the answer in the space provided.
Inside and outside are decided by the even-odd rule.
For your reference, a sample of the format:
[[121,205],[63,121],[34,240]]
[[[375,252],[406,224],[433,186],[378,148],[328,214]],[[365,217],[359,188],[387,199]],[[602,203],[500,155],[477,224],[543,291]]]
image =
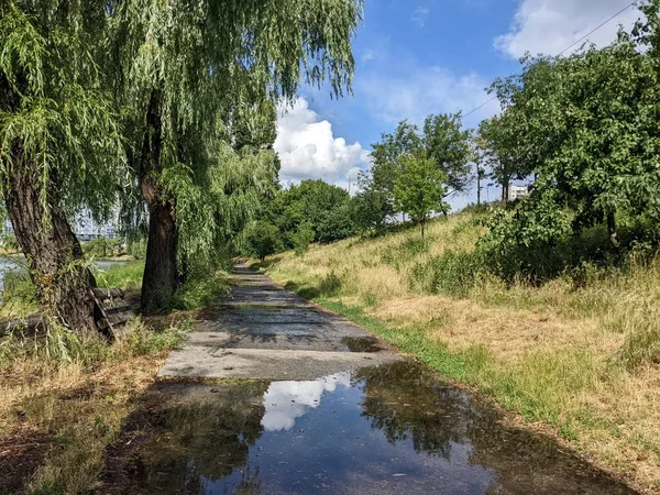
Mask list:
[[127,174],[121,129],[101,89],[108,81],[89,63],[107,58],[98,52],[105,6],[70,6],[62,15],[51,9],[47,1],[0,7],[0,174],[38,177],[46,212],[85,205],[102,218]]

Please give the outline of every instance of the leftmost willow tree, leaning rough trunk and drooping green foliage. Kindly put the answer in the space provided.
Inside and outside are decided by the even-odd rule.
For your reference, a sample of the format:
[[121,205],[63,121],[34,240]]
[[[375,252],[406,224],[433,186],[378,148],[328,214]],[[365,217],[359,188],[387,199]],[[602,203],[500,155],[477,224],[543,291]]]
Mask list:
[[0,2],[0,191],[50,315],[95,327],[95,279],[67,219],[102,217],[125,169],[99,56],[107,2]]

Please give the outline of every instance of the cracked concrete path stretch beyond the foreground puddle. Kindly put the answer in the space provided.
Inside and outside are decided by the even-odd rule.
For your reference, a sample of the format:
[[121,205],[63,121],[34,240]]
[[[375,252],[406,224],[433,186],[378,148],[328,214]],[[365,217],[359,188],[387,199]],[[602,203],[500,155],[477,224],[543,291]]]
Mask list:
[[309,381],[399,359],[363,329],[238,265],[223,307],[158,376]]

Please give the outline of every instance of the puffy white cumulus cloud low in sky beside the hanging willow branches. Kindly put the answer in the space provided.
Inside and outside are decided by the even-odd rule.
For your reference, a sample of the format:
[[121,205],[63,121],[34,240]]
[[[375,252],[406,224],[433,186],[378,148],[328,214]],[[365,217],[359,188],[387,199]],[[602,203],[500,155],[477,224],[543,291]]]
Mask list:
[[305,98],[280,112],[274,147],[282,161],[279,178],[285,184],[308,178],[348,183],[349,176],[370,161],[359,142],[349,144],[336,138],[332,124],[321,120]]

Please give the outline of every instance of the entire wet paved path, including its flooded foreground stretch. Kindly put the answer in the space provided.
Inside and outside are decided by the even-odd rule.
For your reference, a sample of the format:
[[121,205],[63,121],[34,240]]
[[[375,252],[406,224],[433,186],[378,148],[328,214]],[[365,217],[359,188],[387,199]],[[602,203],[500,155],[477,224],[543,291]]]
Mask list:
[[[208,358],[185,372],[168,360],[162,375],[245,377],[251,369],[260,380],[157,382],[108,452],[105,492],[634,493],[553,440],[507,426],[492,406],[342,318],[265,277],[239,277],[231,309],[191,336],[189,345]],[[250,285],[260,302],[246,308]],[[223,354],[237,351],[251,356],[250,366],[211,361],[224,365]],[[292,352],[297,358],[287,362]],[[330,373],[309,365],[320,355]]]

